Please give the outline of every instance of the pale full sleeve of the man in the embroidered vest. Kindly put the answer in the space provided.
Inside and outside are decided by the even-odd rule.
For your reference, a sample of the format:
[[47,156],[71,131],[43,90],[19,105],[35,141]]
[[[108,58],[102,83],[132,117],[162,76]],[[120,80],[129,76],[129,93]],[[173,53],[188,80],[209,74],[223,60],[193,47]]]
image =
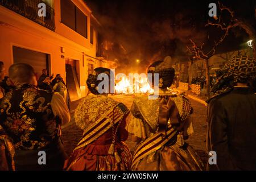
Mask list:
[[71,119],[68,106],[59,93],[54,93],[51,100],[52,111],[55,116],[61,119],[61,125],[68,123]]

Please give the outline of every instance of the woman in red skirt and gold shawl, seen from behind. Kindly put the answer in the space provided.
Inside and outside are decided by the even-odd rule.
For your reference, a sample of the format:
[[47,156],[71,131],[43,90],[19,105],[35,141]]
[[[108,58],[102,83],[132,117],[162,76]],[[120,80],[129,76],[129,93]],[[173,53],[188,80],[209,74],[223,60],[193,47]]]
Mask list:
[[65,170],[71,171],[118,171],[129,170],[131,154],[125,144],[128,133],[125,130],[127,107],[121,102],[98,93],[97,75],[110,69],[96,68],[95,75],[89,75],[86,84],[90,94],[84,98],[75,111],[75,122],[84,133],[65,163]]

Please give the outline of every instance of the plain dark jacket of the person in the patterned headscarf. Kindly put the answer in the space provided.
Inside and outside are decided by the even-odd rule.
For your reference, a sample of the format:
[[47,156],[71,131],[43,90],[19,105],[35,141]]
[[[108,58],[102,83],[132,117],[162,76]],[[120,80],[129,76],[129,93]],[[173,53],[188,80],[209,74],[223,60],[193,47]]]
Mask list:
[[220,170],[256,170],[256,94],[250,88],[235,87],[210,101],[207,147],[216,151]]

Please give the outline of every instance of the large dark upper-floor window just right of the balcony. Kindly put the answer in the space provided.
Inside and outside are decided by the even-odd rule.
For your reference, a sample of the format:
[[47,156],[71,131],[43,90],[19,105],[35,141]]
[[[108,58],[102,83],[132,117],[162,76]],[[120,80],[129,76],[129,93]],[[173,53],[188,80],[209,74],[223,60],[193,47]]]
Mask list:
[[87,38],[87,16],[70,0],[61,1],[61,23]]

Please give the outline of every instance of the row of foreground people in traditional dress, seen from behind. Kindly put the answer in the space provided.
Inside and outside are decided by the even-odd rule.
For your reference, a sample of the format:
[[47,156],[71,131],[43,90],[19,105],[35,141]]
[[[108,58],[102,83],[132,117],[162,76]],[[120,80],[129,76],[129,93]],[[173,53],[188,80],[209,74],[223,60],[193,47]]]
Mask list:
[[[5,69],[0,65],[2,79]],[[80,101],[74,115],[76,125],[84,133],[69,158],[61,142],[61,125],[70,120],[64,97],[36,87],[47,77],[51,80],[46,71],[37,84],[30,65],[11,65],[9,77],[14,88],[9,92],[1,89],[0,169],[205,169],[187,142],[193,133],[191,103],[185,96],[167,89],[175,76],[171,65],[168,59],[148,67],[148,73],[158,73],[161,79],[159,97],[149,100],[147,96],[137,96],[131,109],[108,94],[98,93],[97,77],[105,73],[110,79],[110,69],[97,68],[90,74],[86,80],[90,93]],[[207,148],[217,154],[217,163],[208,163],[207,169],[255,170],[256,94],[250,81],[255,79],[256,61],[237,56],[228,61],[223,71],[213,85],[213,96],[207,101]],[[125,143],[129,135],[137,142],[133,153]],[[38,163],[39,151],[46,152],[46,165]]]

